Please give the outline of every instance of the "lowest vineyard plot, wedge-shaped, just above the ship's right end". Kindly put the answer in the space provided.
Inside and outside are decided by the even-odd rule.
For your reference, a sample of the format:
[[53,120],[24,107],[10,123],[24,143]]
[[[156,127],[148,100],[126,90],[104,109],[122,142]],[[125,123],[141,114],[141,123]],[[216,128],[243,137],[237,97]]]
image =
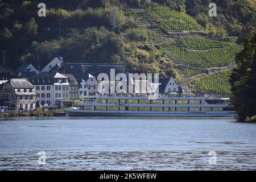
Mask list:
[[203,92],[230,94],[229,76],[231,70],[213,73],[193,80],[191,83]]

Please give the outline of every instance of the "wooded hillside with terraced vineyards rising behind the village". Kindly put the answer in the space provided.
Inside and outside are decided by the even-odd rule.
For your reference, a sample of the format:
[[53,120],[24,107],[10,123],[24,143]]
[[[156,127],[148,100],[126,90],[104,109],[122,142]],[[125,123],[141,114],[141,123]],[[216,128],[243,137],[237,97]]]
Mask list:
[[229,94],[227,75],[256,24],[254,1],[216,1],[216,18],[208,16],[210,1],[43,2],[40,18],[39,1],[0,1],[0,49],[11,68],[42,68],[55,56],[121,63],[217,94]]

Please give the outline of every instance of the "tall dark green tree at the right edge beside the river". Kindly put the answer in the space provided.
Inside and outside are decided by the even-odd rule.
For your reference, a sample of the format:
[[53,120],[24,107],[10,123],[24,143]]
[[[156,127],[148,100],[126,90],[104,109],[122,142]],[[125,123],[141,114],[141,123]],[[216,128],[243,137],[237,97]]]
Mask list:
[[230,78],[231,102],[241,121],[256,115],[256,32],[248,36],[243,46]]

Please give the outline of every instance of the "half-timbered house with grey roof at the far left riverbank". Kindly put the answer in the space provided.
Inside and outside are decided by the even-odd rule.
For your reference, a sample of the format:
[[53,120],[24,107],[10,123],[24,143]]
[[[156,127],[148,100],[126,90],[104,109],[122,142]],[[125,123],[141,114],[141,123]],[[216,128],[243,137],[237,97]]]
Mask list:
[[36,105],[36,92],[34,86],[24,78],[14,78],[2,83],[0,99],[10,109],[34,110]]

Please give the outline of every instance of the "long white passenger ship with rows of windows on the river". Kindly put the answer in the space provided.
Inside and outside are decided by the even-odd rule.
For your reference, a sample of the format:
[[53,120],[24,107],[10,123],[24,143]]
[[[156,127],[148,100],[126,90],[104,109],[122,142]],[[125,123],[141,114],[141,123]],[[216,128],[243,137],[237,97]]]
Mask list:
[[113,117],[236,117],[229,98],[89,96],[79,107],[64,109],[69,116]]

